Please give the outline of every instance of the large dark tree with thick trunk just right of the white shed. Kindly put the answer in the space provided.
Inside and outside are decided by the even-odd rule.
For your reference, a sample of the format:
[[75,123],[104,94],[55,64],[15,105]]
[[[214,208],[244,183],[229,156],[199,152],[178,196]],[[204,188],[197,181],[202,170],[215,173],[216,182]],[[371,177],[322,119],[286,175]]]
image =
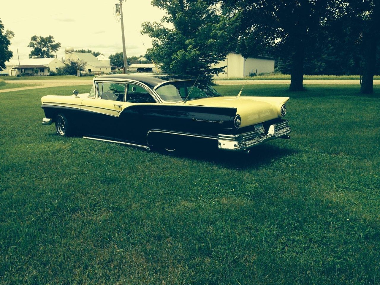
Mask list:
[[225,0],[223,14],[235,23],[237,51],[245,57],[280,50],[291,60],[290,90],[303,89],[304,59],[315,45],[334,0]]

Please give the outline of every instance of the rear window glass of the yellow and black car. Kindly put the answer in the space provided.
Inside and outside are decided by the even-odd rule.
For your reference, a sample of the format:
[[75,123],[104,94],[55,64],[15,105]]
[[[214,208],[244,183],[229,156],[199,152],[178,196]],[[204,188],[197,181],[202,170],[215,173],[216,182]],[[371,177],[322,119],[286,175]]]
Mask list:
[[193,85],[194,80],[168,82],[158,87],[156,92],[166,102],[185,101],[189,94],[188,100],[222,96],[206,82],[198,81]]

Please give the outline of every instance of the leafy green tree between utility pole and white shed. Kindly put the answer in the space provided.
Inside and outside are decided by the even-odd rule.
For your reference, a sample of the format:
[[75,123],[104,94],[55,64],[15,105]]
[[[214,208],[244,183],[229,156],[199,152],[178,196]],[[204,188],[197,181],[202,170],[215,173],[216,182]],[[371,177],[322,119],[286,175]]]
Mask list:
[[153,39],[148,53],[164,72],[206,78],[223,72],[224,67],[213,65],[225,59],[231,32],[218,5],[207,0],[153,0],[152,5],[167,16],[160,23],[144,22],[142,33]]

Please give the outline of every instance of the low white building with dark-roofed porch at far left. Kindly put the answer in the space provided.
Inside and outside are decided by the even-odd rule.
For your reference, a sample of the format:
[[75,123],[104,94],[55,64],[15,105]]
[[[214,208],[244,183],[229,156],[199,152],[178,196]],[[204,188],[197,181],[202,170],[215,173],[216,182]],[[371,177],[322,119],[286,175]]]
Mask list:
[[[59,59],[49,57],[47,59],[23,59],[20,60],[20,65],[18,63],[7,65],[7,70],[10,76],[16,76],[20,70],[26,75],[46,76],[49,75],[49,70],[56,71],[57,68],[63,66],[64,64]],[[35,68],[38,70],[37,74],[34,73]]]

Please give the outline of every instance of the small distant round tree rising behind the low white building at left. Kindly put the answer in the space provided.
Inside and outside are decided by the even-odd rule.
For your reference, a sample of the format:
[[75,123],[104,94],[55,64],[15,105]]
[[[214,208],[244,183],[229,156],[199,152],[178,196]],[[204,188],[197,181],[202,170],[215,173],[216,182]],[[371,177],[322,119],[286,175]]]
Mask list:
[[47,57],[54,57],[53,52],[57,52],[61,43],[56,43],[54,36],[32,36],[28,47],[32,47],[29,54],[30,59],[43,59]]

